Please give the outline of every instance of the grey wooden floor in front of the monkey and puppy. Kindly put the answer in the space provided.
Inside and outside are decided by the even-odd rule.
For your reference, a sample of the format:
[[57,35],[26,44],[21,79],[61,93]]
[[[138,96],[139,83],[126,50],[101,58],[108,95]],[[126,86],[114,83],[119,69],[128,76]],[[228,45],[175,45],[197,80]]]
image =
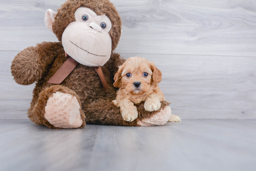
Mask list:
[[249,171],[256,120],[183,120],[152,127],[55,130],[0,120],[0,170]]

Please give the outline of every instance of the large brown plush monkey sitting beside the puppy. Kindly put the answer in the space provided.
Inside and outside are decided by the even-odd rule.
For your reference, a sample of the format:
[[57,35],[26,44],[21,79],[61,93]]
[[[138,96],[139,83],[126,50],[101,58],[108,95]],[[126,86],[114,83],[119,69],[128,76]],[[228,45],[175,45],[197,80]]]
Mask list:
[[28,109],[31,121],[50,128],[82,128],[85,122],[142,126],[168,121],[171,109],[165,101],[153,112],[137,105],[138,118],[132,122],[124,121],[120,108],[111,103],[117,93],[114,75],[125,60],[113,53],[121,36],[121,19],[109,0],[68,0],[57,13],[46,11],[45,24],[59,42],[28,47],[11,64],[18,84],[36,82]]

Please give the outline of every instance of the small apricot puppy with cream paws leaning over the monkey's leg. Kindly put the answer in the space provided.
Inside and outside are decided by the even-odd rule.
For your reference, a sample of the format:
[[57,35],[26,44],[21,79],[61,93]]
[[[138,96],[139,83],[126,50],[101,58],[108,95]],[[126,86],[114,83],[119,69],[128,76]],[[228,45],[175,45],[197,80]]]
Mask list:
[[[157,85],[162,80],[162,73],[153,62],[145,58],[130,57],[119,67],[114,80],[114,86],[120,89],[112,103],[120,107],[125,121],[133,121],[138,117],[134,104],[145,102],[144,108],[147,111],[156,111],[161,107],[160,102],[165,100],[164,93]],[[169,121],[181,120],[172,115]]]

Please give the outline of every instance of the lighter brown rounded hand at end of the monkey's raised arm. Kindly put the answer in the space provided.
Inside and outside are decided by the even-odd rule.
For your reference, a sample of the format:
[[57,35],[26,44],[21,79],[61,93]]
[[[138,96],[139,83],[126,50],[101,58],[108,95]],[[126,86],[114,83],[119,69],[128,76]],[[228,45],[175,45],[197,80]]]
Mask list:
[[21,85],[30,85],[42,75],[40,55],[32,46],[19,52],[11,63],[11,74]]

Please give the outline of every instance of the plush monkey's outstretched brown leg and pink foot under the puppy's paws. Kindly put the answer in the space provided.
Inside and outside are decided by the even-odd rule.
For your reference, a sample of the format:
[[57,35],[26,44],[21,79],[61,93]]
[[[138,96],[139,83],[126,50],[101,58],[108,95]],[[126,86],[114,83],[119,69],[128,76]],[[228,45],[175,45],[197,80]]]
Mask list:
[[[158,111],[146,111],[144,103],[135,105],[138,111],[138,117],[129,122],[125,121],[120,113],[120,108],[111,103],[111,100],[97,99],[83,108],[85,112],[85,121],[88,124],[101,125],[119,125],[119,126],[141,126],[143,125],[163,125],[171,115],[170,103],[161,102],[161,108]],[[170,109],[170,111],[166,109]],[[165,119],[163,119],[165,118]],[[139,121],[139,122],[138,122]]]

